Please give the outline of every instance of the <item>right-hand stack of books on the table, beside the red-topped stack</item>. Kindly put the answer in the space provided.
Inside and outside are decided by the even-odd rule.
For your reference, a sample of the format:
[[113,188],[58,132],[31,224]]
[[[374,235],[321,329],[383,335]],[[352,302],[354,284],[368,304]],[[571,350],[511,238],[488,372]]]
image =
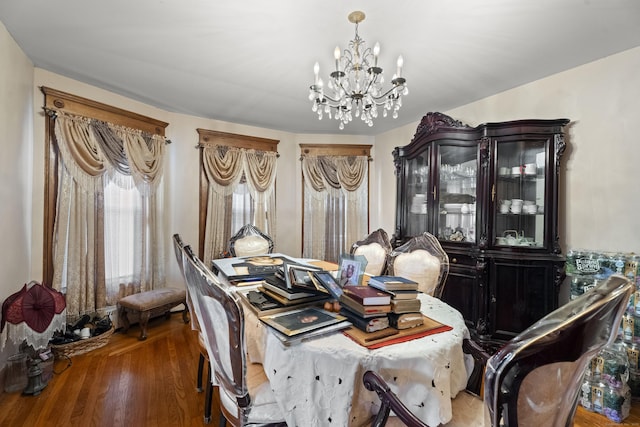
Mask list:
[[400,276],[374,276],[369,279],[369,286],[390,295],[390,326],[408,329],[422,325],[417,282]]

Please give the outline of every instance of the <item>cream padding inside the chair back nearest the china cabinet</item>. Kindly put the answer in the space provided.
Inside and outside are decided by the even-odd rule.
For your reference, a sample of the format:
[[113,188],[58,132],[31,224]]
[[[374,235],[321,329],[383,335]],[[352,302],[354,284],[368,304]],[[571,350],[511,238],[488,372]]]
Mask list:
[[393,274],[418,282],[418,290],[432,295],[440,277],[440,260],[424,249],[400,254],[393,262]]

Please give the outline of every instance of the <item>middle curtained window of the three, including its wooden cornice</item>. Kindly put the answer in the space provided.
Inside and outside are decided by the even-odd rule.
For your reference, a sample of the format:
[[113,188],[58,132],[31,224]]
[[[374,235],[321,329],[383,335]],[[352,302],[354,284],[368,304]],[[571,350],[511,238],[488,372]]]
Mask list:
[[198,129],[200,141],[200,255],[225,256],[228,242],[252,224],[276,242],[278,141]]

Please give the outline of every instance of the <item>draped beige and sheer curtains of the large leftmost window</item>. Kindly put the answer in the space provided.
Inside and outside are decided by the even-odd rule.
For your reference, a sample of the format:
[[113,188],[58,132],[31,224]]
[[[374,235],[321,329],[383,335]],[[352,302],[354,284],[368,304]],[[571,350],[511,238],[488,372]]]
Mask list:
[[54,289],[67,314],[103,314],[118,299],[164,285],[159,135],[57,112],[59,188]]

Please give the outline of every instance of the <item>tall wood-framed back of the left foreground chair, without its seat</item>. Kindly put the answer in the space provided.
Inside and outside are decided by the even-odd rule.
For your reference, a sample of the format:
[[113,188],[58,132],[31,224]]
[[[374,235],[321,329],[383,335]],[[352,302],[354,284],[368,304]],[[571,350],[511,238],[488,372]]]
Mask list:
[[193,296],[202,337],[207,347],[216,383],[235,399],[244,424],[251,409],[246,384],[244,313],[238,296],[186,247],[185,275]]

